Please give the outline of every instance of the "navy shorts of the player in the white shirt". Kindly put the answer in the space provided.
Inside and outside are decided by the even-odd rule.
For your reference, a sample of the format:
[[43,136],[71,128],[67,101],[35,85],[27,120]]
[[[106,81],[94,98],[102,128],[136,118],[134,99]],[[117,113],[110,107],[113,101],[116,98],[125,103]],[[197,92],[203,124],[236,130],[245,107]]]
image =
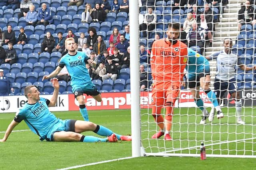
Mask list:
[[236,92],[237,88],[236,79],[234,78],[230,80],[219,80],[215,78],[214,80],[214,92],[217,98],[222,99],[227,90],[231,95]]

